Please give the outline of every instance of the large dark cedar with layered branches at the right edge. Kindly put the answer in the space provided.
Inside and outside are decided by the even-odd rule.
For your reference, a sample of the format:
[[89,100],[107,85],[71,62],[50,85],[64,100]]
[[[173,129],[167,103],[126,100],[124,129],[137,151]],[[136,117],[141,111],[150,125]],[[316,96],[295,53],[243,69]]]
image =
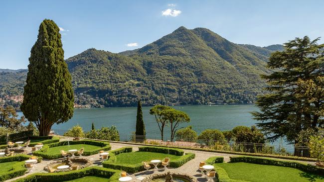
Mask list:
[[260,112],[252,112],[270,141],[284,137],[298,144],[302,130],[324,126],[324,44],[318,40],[296,38],[271,54],[267,67],[273,72],[262,75],[269,93],[256,102]]

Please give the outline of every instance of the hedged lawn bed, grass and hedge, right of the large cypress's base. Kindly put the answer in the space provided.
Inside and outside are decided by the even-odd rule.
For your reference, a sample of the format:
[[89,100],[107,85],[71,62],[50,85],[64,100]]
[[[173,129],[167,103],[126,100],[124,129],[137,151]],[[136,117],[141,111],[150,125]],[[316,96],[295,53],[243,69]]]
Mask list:
[[35,151],[33,155],[41,156],[45,159],[58,159],[62,158],[61,150],[68,151],[71,149],[84,148],[83,156],[90,156],[98,154],[99,151],[108,151],[111,146],[108,142],[93,141],[93,140],[78,140],[78,141],[63,141],[44,145],[39,151]]

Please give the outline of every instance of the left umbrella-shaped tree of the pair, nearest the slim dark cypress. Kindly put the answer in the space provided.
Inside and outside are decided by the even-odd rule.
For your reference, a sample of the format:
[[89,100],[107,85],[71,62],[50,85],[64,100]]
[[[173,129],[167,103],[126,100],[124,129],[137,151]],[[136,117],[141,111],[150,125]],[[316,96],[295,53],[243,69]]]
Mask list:
[[161,131],[161,140],[163,140],[163,130],[164,126],[168,123],[168,118],[165,117],[163,110],[172,109],[172,107],[166,105],[155,105],[150,109],[150,114],[155,116],[155,120],[158,123],[159,129]]

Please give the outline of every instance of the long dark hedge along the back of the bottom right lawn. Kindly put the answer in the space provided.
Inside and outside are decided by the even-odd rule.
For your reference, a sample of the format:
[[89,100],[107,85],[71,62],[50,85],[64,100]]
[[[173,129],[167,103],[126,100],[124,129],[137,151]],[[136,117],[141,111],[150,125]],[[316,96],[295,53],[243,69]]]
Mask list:
[[230,156],[232,163],[253,163],[261,165],[272,165],[272,166],[283,166],[289,168],[296,168],[304,172],[324,176],[324,168],[319,168],[311,164],[295,162],[295,161],[283,161],[261,157],[250,157],[250,156]]

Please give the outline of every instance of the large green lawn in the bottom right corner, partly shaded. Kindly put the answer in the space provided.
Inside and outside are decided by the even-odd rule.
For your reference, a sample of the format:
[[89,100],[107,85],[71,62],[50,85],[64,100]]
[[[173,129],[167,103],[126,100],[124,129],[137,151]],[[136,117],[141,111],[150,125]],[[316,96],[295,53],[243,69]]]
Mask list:
[[324,176],[312,175],[298,169],[250,163],[217,163],[229,178],[249,182],[324,182]]

